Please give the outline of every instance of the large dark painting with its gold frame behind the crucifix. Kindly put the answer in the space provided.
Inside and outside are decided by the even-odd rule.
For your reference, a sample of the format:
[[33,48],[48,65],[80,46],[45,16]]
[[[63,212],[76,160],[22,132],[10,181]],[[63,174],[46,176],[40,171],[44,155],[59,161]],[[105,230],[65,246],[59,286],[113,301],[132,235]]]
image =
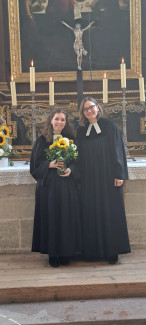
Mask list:
[[17,82],[28,81],[32,59],[37,81],[50,76],[76,80],[77,24],[85,49],[84,80],[90,80],[91,71],[93,80],[102,79],[104,71],[108,79],[120,79],[122,57],[127,78],[141,73],[140,0],[9,0],[8,5],[11,69]]

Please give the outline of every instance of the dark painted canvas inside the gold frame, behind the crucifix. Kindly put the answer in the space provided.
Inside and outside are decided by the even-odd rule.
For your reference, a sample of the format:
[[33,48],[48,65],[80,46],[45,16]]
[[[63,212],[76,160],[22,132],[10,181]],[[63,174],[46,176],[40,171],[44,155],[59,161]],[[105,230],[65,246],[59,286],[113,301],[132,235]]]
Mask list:
[[82,19],[74,20],[72,2],[66,0],[64,7],[61,3],[61,0],[49,1],[45,14],[32,12],[31,17],[26,0],[19,1],[22,72],[28,72],[32,58],[36,72],[76,70],[74,33],[61,20],[72,27],[80,23],[82,28],[92,20],[95,22],[90,31],[83,33],[83,45],[88,51],[83,56],[84,71],[119,69],[122,56],[130,69],[129,8],[121,10],[117,0],[100,0],[92,13],[82,13]]

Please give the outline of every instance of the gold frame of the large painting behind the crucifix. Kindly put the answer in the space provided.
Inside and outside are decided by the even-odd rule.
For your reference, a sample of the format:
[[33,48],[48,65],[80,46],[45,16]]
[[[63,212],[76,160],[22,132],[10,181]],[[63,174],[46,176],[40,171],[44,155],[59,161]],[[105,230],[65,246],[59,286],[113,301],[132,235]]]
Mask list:
[[[21,64],[21,39],[19,1],[8,0],[9,13],[9,39],[11,74],[18,83],[29,82],[29,73],[22,72]],[[110,0],[109,0],[110,1]],[[127,78],[138,78],[142,71],[141,50],[141,0],[130,1],[130,69],[127,69]],[[28,62],[29,65],[29,62]],[[108,79],[120,79],[120,67],[118,70],[106,71]],[[54,81],[76,81],[76,71],[63,72],[38,72],[36,82],[46,82],[49,77]],[[90,71],[83,71],[83,80],[90,80]],[[92,71],[92,80],[102,80],[103,70]]]

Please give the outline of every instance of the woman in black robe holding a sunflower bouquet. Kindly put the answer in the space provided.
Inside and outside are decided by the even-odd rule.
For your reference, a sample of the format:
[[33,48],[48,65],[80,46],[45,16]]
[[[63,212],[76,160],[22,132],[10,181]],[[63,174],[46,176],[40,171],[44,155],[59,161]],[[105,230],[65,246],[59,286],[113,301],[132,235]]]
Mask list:
[[75,164],[71,163],[65,175],[57,169],[61,160],[49,161],[45,149],[62,135],[73,139],[74,130],[62,109],[52,110],[41,135],[35,142],[30,173],[37,181],[32,251],[49,255],[53,267],[67,265],[69,257],[81,252],[81,225],[79,193]]

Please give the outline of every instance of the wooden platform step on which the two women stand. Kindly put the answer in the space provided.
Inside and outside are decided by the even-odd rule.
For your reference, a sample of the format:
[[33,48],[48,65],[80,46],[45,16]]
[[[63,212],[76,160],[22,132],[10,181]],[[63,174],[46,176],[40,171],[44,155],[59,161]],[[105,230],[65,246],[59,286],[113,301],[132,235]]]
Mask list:
[[145,250],[115,265],[72,260],[58,268],[39,253],[0,256],[0,304],[129,297],[146,297]]

